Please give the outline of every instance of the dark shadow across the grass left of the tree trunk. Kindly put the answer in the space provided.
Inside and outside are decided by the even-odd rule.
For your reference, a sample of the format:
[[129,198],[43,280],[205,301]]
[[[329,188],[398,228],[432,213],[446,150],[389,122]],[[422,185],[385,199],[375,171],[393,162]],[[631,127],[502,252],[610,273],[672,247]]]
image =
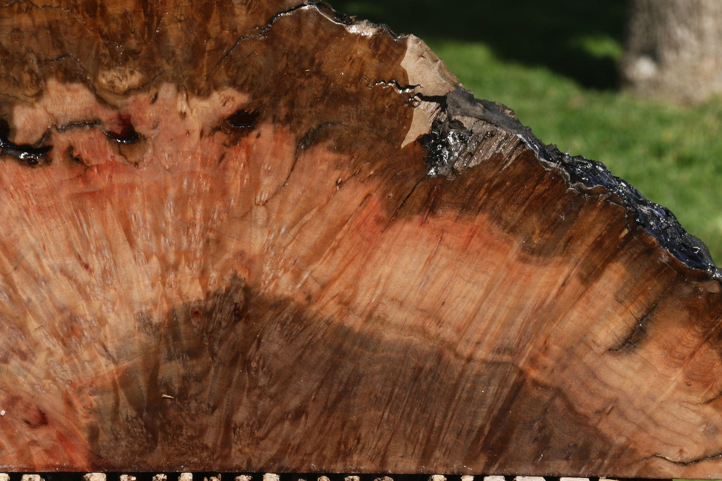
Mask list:
[[617,88],[627,0],[330,1],[397,34],[479,41],[504,60],[545,66],[588,88]]

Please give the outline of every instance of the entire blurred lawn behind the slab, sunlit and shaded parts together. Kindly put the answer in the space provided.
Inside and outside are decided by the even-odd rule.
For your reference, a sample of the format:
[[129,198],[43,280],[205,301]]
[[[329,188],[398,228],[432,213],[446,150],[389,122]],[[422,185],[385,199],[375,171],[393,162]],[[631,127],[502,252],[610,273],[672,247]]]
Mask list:
[[478,98],[508,105],[542,142],[603,162],[722,261],[722,97],[674,105],[619,90],[626,0],[332,3],[422,38]]

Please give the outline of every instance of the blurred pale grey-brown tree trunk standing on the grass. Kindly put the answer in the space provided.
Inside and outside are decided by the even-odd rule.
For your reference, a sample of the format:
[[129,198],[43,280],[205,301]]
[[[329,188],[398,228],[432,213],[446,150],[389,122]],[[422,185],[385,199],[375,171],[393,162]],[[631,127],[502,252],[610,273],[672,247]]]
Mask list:
[[699,102],[722,93],[722,2],[632,0],[622,79],[645,96]]

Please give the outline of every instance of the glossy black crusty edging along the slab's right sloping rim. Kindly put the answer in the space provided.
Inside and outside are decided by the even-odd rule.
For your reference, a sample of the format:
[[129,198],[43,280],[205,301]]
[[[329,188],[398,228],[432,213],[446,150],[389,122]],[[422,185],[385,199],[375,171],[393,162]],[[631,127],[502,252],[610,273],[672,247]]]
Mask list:
[[[492,123],[516,134],[536,154],[536,158],[549,169],[562,173],[567,186],[579,192],[599,191],[604,188],[609,200],[629,209],[635,222],[652,235],[659,245],[676,259],[692,269],[708,272],[722,281],[722,270],[714,263],[707,246],[694,235],[687,233],[669,209],[645,199],[634,186],[618,178],[596,160],[571,156],[560,152],[554,145],[545,145],[514,116],[513,111],[499,103],[477,100],[464,87],[456,89],[441,103],[445,116],[434,122],[430,134],[419,141],[428,151],[427,166],[430,175],[458,175],[466,164],[458,160],[474,150],[471,131],[456,118],[474,117]],[[444,118],[445,117],[445,118]]]

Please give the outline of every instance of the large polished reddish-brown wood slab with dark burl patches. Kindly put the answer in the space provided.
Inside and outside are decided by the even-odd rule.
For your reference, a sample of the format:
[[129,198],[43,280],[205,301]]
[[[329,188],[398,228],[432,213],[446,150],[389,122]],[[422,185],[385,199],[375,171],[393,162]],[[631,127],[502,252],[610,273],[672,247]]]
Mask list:
[[666,209],[327,6],[64,6],[0,6],[0,469],[722,475]]

